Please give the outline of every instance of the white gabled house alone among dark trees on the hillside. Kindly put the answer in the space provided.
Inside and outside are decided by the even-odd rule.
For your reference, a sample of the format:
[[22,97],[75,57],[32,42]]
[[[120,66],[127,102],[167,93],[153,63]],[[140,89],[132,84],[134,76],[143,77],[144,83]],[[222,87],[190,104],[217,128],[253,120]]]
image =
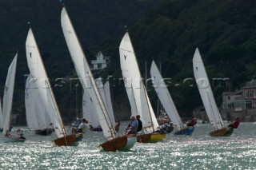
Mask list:
[[95,69],[105,69],[106,65],[110,62],[110,57],[105,57],[100,51],[96,55],[96,60],[92,60],[91,64],[93,65],[92,70]]

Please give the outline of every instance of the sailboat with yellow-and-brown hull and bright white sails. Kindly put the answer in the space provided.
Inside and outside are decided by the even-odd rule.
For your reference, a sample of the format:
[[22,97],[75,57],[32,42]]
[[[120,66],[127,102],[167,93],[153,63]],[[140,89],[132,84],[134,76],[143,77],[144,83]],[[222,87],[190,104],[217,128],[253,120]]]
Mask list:
[[142,76],[138,69],[138,62],[128,32],[119,45],[122,77],[126,86],[126,93],[130,101],[132,115],[140,115],[144,134],[138,135],[138,142],[155,142],[166,138],[166,134],[157,132],[158,121],[147,96]]

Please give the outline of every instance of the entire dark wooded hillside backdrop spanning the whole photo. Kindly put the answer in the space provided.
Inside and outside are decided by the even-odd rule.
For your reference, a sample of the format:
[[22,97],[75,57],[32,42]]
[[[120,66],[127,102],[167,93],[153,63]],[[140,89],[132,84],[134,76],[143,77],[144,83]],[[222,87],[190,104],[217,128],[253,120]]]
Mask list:
[[[3,89],[7,68],[18,49],[14,108],[24,116],[27,22],[34,30],[52,84],[58,85],[59,81],[55,81],[58,77],[72,76],[74,66],[60,26],[62,4],[32,0],[0,0],[0,4],[0,89]],[[192,110],[202,105],[192,70],[197,46],[218,106],[222,103],[224,90],[238,89],[255,77],[256,2],[252,0],[66,0],[65,4],[86,56],[93,58],[99,50],[110,56],[108,69],[94,76],[112,76],[118,118],[122,118],[119,114],[130,112],[120,80],[118,54],[118,45],[126,32],[124,26],[130,32],[142,74],[145,76],[147,68],[149,77],[153,59],[158,65],[161,63],[162,75],[169,78],[167,84],[182,117],[190,117]],[[229,78],[230,81],[217,82],[214,78]],[[69,120],[74,117],[75,105],[75,89],[70,85],[70,81],[65,81],[62,87],[54,88],[62,115]],[[150,101],[157,109],[154,89],[148,87]],[[81,87],[78,91],[78,100],[81,100]]]

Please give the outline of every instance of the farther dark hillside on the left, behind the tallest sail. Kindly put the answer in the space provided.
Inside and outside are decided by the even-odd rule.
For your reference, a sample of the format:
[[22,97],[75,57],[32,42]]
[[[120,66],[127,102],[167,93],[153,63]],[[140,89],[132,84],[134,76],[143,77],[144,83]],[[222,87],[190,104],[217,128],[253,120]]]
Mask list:
[[[80,38],[86,56],[94,58],[100,44],[106,38],[122,36],[124,26],[133,25],[157,0],[66,0],[65,6]],[[4,1],[0,0],[0,96],[2,97],[7,69],[16,51],[18,65],[14,89],[14,113],[25,117],[24,89],[29,73],[26,64],[25,42],[31,26],[46,65],[54,94],[62,116],[67,119],[75,117],[75,88],[70,81],[63,84],[60,79],[73,75],[74,65],[68,52],[60,23],[62,3],[51,1]],[[132,11],[132,12],[131,12]],[[30,22],[30,26],[28,25]],[[72,82],[73,83],[73,82]],[[58,84],[62,85],[60,87]],[[82,105],[82,88],[78,87],[78,107]],[[80,102],[79,102],[80,101]]]

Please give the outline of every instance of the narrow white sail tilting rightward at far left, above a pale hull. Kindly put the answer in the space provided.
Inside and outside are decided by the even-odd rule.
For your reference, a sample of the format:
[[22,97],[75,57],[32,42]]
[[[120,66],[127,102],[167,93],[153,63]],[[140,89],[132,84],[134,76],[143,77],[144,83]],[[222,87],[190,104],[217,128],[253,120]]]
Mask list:
[[3,103],[2,103],[2,113],[3,113],[3,128],[2,134],[6,135],[6,132],[10,132],[10,115],[11,108],[13,104],[13,96],[14,96],[14,80],[16,73],[16,65],[17,65],[17,57],[18,53],[16,53],[14,60],[11,62],[10,67],[8,69],[7,77],[6,77],[6,86],[3,95]]

